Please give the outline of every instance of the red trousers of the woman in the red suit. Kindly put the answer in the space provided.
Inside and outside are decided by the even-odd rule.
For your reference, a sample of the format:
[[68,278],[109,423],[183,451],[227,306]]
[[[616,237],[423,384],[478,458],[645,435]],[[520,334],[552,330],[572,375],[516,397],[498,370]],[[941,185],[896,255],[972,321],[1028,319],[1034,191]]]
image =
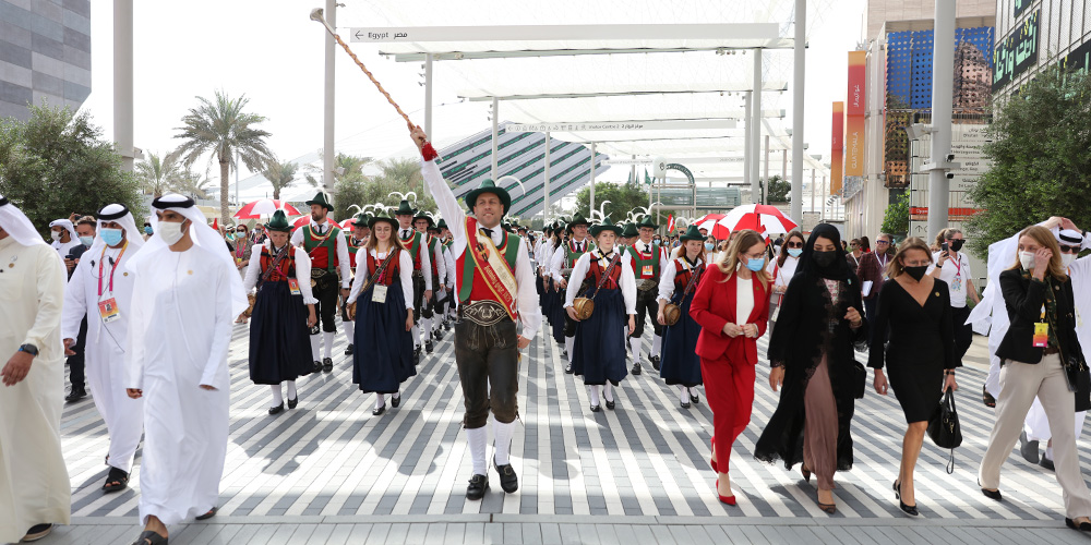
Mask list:
[[754,410],[754,365],[727,358],[702,358],[700,377],[705,382],[705,399],[712,410],[716,465],[721,473],[728,473],[731,447],[746,429]]

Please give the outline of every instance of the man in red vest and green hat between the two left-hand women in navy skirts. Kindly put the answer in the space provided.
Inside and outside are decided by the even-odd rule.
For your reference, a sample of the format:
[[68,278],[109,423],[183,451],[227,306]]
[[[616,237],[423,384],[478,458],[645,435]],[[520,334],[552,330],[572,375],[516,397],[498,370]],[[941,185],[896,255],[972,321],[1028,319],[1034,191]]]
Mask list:
[[[334,370],[333,350],[337,326],[334,318],[337,314],[337,286],[340,284],[341,299],[348,299],[352,286],[352,272],[349,270],[348,243],[340,228],[327,216],[334,210],[325,193],[319,192],[314,198],[307,202],[311,207],[311,222],[296,229],[291,233],[291,245],[302,245],[311,257],[311,291],[319,300],[319,320],[322,322],[322,340],[319,340],[319,325],[311,328],[311,358],[314,359],[314,371],[329,373]],[[340,278],[337,271],[340,270]],[[319,348],[324,346],[324,353],[319,361]]]

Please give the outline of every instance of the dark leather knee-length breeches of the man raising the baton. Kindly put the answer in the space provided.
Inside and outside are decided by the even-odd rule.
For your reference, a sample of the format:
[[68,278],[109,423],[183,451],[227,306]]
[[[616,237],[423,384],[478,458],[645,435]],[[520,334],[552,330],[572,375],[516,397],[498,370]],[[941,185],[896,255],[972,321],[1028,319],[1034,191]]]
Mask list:
[[464,427],[484,427],[490,410],[502,424],[515,421],[519,412],[519,347],[512,318],[481,325],[459,314],[455,364],[465,398]]

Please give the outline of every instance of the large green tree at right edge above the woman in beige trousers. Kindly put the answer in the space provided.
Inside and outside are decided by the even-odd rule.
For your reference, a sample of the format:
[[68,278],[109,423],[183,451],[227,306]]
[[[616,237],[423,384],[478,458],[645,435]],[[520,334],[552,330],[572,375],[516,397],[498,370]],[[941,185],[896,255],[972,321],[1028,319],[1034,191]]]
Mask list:
[[1043,72],[998,105],[984,146],[992,168],[970,198],[984,211],[968,227],[971,247],[1011,237],[1051,216],[1091,218],[1091,75]]

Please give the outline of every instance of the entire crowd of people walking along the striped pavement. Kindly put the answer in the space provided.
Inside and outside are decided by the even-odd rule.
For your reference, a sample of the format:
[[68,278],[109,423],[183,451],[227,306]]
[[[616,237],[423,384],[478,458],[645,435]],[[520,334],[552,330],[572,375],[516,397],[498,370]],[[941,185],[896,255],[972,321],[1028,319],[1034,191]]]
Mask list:
[[[851,423],[868,378],[858,354],[867,353],[874,390],[892,389],[904,413],[891,486],[910,516],[920,512],[913,477],[928,421],[958,387],[972,324],[987,322],[995,376],[983,401],[995,405],[996,423],[979,469],[982,494],[1002,500],[1000,469],[1017,441],[1035,461],[1038,441],[1046,441],[1041,460],[1055,465],[1067,525],[1091,530],[1076,448],[1077,411],[1091,408],[1081,350],[1091,342],[1082,319],[1091,259],[1077,255],[1091,244],[1072,221],[1051,218],[993,244],[979,296],[964,235],[954,229],[933,246],[909,238],[896,249],[882,234],[874,250],[867,238],[842,241],[830,225],[775,241],[750,230],[719,241],[696,226],[662,235],[650,216],[615,225],[576,214],[533,233],[505,221],[512,198],[491,180],[467,193],[463,208],[427,135],[415,129],[412,138],[442,219],[403,199],[343,229],[319,193],[301,227],[276,211],[252,232],[219,230],[192,199],[166,195],[143,228],[117,204],[96,218],[53,221],[50,246],[0,197],[0,351],[13,354],[0,370],[0,410],[20,415],[0,420],[0,497],[11,498],[0,500],[0,542],[41,538],[69,522],[65,356],[65,399],[89,387],[107,426],[104,493],[129,486],[143,439],[144,528],[134,543],[167,543],[168,525],[215,516],[229,343],[248,318],[250,378],[269,387],[271,415],[298,407],[300,377],[333,372],[338,325],[352,383],[374,393],[376,417],[387,401],[407,402],[403,386],[423,354],[453,335],[471,500],[487,494],[492,470],[505,493],[518,491],[509,450],[519,354],[542,335],[563,354],[563,371],[588,388],[592,413],[624,402],[618,387],[645,365],[678,388],[682,411],[700,402],[704,387],[716,494],[728,505],[736,504],[730,458],[751,424],[756,367],[767,360],[780,398],[758,423],[752,455],[789,470],[800,463],[806,482],[816,477],[818,507],[834,513],[835,476],[852,469]],[[767,358],[757,344],[765,335]]]

